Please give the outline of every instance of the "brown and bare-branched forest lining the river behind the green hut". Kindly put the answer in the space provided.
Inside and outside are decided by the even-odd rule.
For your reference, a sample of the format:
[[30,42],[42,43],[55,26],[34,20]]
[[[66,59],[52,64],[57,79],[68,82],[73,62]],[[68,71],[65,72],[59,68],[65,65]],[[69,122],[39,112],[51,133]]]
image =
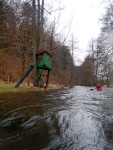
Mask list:
[[[56,33],[58,23],[49,20],[48,13],[52,12],[47,11],[50,6],[47,7],[44,0],[0,0],[0,82],[17,82],[35,62],[36,52],[45,49],[52,55],[50,83],[92,86],[100,82],[111,85],[113,4],[111,1],[105,3],[105,14],[100,19],[101,32],[98,38],[90,40],[88,56],[78,66],[72,55],[76,40],[72,38],[69,46],[65,38]],[[79,47],[76,50],[79,51]],[[31,72],[24,82],[33,83],[35,75]]]

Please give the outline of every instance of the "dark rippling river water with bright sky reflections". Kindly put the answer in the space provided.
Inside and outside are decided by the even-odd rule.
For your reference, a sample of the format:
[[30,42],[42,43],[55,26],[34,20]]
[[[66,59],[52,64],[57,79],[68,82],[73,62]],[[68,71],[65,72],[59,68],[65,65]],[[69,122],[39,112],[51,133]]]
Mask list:
[[113,150],[113,89],[0,94],[0,150]]

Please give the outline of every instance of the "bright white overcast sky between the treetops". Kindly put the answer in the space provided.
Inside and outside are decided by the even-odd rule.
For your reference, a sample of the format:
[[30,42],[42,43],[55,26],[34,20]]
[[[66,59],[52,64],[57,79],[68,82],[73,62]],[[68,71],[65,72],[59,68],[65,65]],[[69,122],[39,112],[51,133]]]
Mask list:
[[62,28],[72,20],[71,33],[79,41],[79,48],[82,50],[79,53],[79,58],[83,60],[86,56],[85,51],[87,50],[89,40],[93,37],[98,37],[100,31],[99,18],[104,12],[104,5],[102,0],[60,1],[61,7],[64,7],[64,9],[61,11],[59,25]]

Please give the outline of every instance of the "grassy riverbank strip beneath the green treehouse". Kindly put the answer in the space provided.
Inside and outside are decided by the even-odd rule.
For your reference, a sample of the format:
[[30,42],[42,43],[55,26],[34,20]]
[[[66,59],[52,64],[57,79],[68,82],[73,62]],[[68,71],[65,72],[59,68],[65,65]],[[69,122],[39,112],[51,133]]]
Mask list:
[[34,87],[33,84],[21,84],[18,88],[14,87],[15,84],[13,83],[0,83],[0,93],[9,93],[9,92],[30,92],[30,91],[47,91],[52,89],[59,89],[63,88],[63,86],[49,84],[48,88],[39,88]]

